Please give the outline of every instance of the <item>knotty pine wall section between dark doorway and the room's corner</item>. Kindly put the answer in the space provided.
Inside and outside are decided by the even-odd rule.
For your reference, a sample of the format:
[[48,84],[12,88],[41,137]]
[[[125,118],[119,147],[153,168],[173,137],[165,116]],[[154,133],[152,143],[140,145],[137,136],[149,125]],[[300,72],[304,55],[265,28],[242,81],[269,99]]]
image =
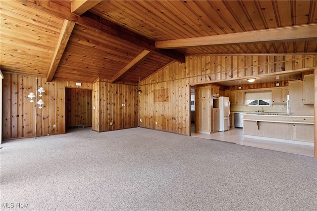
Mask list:
[[96,116],[93,130],[103,132],[138,126],[137,85],[111,84],[109,80],[98,80],[93,85]]

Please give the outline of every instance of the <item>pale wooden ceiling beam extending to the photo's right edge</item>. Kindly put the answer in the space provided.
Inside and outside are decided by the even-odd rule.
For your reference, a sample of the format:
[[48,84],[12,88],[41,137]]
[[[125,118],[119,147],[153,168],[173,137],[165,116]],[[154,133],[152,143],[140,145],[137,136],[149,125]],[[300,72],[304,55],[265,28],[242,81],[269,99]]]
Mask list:
[[159,49],[169,49],[267,42],[296,42],[316,39],[317,24],[307,24],[199,38],[158,41],[156,42],[156,47]]

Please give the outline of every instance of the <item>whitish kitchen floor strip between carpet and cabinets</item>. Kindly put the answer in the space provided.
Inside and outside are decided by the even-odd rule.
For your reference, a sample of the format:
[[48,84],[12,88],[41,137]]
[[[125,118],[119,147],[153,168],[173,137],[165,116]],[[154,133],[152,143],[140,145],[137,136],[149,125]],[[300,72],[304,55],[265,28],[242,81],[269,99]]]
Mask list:
[[206,139],[229,141],[245,146],[252,146],[263,149],[270,149],[280,152],[287,152],[314,157],[314,146],[244,137],[242,129],[239,128],[230,128],[230,130],[228,131],[215,132],[212,134],[192,133],[192,136]]

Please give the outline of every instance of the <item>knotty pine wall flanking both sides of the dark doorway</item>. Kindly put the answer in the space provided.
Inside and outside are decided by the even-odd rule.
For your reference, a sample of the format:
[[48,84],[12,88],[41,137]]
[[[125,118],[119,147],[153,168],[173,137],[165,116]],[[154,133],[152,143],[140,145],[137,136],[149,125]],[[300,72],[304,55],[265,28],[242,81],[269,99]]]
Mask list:
[[[36,92],[36,77],[3,73],[2,140],[35,136],[35,102],[27,97]],[[66,88],[78,88],[76,82],[38,78],[38,86],[45,89],[42,99],[45,104],[38,108],[37,136],[66,132]],[[92,91],[92,129],[108,131],[137,127],[137,85],[111,84],[109,81],[94,84],[82,83],[81,89]],[[76,100],[77,101],[77,100]],[[125,107],[122,107],[122,103]],[[93,109],[95,106],[95,109]],[[88,117],[87,117],[88,118]],[[113,125],[110,126],[109,122]],[[56,125],[53,128],[53,125]]]

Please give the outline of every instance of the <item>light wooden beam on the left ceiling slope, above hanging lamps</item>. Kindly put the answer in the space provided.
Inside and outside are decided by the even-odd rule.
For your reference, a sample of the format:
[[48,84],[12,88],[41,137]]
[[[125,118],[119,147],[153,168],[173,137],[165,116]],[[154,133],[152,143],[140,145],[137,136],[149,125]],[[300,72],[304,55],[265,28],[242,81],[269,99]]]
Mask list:
[[59,61],[64,53],[65,47],[67,45],[67,42],[69,40],[69,37],[74,29],[75,23],[64,20],[63,26],[61,28],[58,42],[56,44],[55,52],[53,54],[53,59],[50,65],[50,69],[48,71],[47,75],[47,82],[52,82],[54,74],[56,72],[57,66],[59,64]]

